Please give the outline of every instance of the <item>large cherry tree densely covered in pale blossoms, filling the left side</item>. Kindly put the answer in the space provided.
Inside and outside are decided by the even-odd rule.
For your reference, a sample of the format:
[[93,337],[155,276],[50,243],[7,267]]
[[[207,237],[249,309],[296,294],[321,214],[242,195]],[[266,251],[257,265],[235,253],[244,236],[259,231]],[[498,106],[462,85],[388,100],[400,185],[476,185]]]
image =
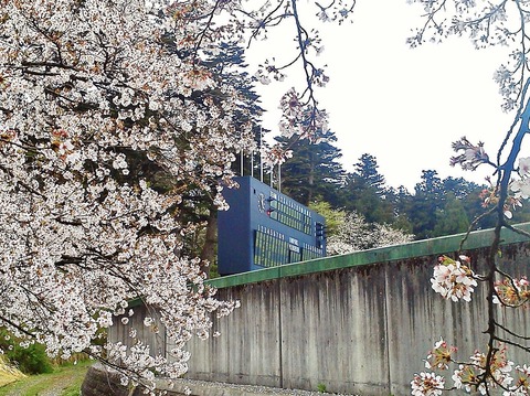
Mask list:
[[[234,153],[255,149],[252,99],[237,89],[247,77],[212,60],[293,21],[293,61],[265,63],[256,78],[299,63],[306,86],[282,100],[283,132],[324,128],[318,32],[297,6],[0,0],[0,327],[50,356],[85,352],[151,390],[156,375],[187,371],[186,342],[237,303],[216,300],[200,259],[182,253],[198,226],[182,207],[200,194],[223,208]],[[317,12],[342,22],[353,6]],[[155,317],[165,325],[170,358],[104,340],[102,329],[135,314],[132,299],[152,310],[146,328],[158,331]]]

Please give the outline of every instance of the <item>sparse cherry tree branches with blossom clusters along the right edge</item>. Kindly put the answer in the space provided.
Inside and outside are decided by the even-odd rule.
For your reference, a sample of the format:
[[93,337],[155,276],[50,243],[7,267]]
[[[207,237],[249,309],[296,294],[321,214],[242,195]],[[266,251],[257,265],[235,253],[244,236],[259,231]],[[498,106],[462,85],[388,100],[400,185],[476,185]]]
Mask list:
[[[484,285],[488,307],[486,347],[477,350],[467,361],[458,361],[457,345],[448,345],[443,339],[439,340],[425,362],[430,372],[414,376],[411,383],[412,394],[442,395],[447,389],[460,389],[481,395],[528,395],[528,362],[511,361],[510,350],[519,350],[523,355],[529,355],[529,339],[504,325],[499,307],[505,310],[528,307],[529,281],[524,276],[507,274],[502,269],[499,248],[501,229],[530,237],[510,224],[512,212],[528,204],[526,201],[530,196],[530,159],[521,154],[521,143],[530,132],[530,36],[527,30],[530,4],[521,0],[412,0],[411,3],[421,6],[424,18],[423,25],[409,39],[412,46],[426,41],[441,42],[451,35],[467,35],[477,49],[505,45],[511,51],[509,58],[495,73],[495,79],[504,97],[504,110],[515,111],[513,122],[495,159],[487,154],[481,142],[473,143],[462,138],[453,146],[457,152],[452,159],[453,165],[466,170],[475,170],[479,165],[492,169],[494,180],[483,195],[486,208],[484,216],[496,218],[489,255],[481,267],[486,270],[476,274],[473,269],[476,264],[465,255],[455,258],[444,256],[435,266],[431,280],[436,292],[453,301],[470,301],[475,288]],[[444,372],[447,371],[451,372],[445,375]]]

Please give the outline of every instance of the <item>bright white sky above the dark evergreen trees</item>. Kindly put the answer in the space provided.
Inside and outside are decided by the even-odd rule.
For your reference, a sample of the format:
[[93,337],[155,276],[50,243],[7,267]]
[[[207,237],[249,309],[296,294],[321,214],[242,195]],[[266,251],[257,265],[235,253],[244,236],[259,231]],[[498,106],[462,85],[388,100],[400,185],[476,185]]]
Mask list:
[[[492,81],[507,58],[506,50],[477,51],[466,38],[411,50],[405,39],[420,13],[405,0],[358,0],[352,24],[316,25],[326,47],[318,61],[328,64],[331,77],[318,92],[320,106],[330,114],[348,171],[370,153],[388,185],[404,185],[410,192],[427,169],[442,179],[464,176],[483,183],[491,169],[463,172],[449,167],[451,143],[463,136],[473,142],[481,140],[489,156],[496,157],[513,119],[513,114],[500,109],[501,97]],[[248,60],[288,52],[293,35],[279,34],[271,36],[268,47],[251,47]],[[278,39],[286,49],[278,50]],[[289,73],[301,75],[301,68]],[[264,124],[273,131],[279,119],[279,97],[290,85],[258,87],[268,110]]]

